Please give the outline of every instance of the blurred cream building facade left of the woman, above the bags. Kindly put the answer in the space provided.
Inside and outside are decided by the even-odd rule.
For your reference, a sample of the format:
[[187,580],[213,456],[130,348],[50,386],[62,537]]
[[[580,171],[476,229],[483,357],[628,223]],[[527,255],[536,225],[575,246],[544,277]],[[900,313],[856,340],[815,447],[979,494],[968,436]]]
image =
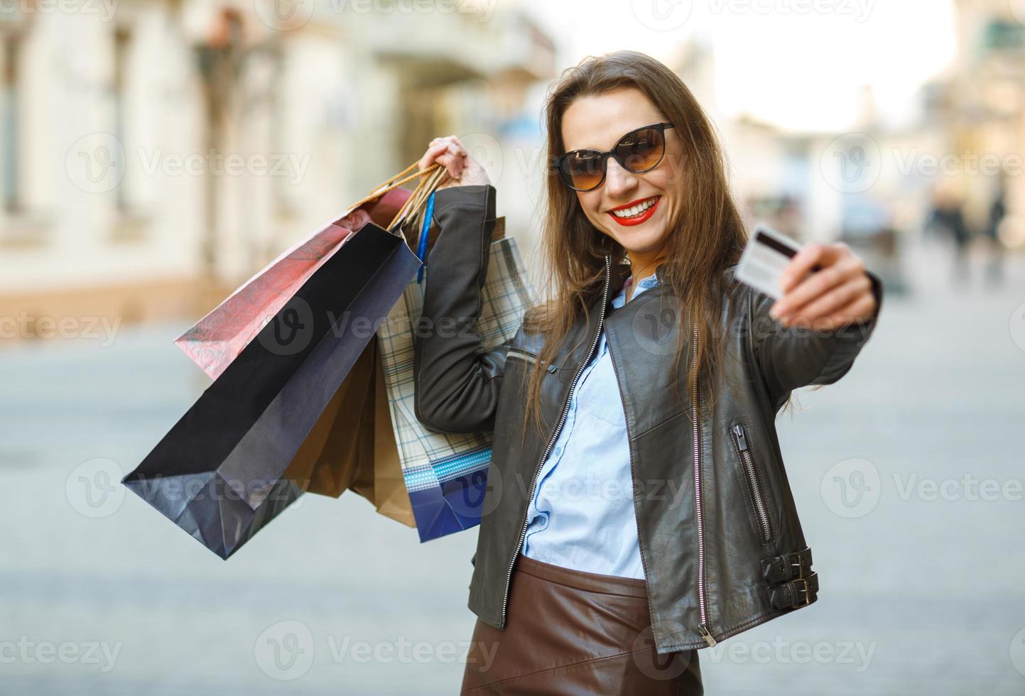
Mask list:
[[5,5],[4,338],[197,316],[430,138],[500,149],[554,66],[515,2]]

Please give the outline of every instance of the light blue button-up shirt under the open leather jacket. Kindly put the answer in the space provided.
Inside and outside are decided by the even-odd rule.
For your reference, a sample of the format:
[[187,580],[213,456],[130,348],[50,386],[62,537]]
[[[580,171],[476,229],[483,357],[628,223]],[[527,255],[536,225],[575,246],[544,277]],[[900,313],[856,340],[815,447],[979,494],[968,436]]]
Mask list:
[[[658,284],[655,274],[633,290]],[[626,303],[626,286],[612,306]],[[566,422],[527,508],[524,556],[588,573],[644,579],[633,515],[626,416],[603,330],[570,395]]]

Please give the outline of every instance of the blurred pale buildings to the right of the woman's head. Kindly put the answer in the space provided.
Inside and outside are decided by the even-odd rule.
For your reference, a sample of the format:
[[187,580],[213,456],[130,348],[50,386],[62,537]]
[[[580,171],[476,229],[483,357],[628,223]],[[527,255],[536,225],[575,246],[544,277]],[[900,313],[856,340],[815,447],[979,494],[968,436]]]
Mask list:
[[[1025,3],[956,0],[956,50],[924,85],[909,118],[878,115],[871,85],[834,131],[802,132],[720,112],[715,55],[682,44],[673,68],[722,135],[745,222],[801,241],[843,240],[895,290],[901,249],[916,242],[937,198],[963,204],[982,236],[996,189],[1007,188],[999,239],[1025,247]],[[1001,177],[995,172],[1003,170]]]

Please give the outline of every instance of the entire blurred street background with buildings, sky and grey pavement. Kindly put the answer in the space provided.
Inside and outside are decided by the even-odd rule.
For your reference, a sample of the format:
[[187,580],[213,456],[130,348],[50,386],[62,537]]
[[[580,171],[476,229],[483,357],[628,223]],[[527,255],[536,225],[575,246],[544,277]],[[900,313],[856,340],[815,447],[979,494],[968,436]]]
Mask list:
[[531,264],[545,90],[619,48],[887,285],[778,420],[819,602],[706,693],[1025,694],[1025,1],[0,0],[0,696],[457,693],[476,530],[304,495],[223,562],[118,481],[209,384],[172,339],[430,138]]

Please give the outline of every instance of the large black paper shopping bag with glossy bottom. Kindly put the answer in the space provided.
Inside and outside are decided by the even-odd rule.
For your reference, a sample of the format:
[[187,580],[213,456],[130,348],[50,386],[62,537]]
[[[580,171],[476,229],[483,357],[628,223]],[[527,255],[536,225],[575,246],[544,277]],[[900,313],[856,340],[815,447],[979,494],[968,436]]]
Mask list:
[[420,260],[368,222],[122,483],[227,559],[309,485],[283,479]]

